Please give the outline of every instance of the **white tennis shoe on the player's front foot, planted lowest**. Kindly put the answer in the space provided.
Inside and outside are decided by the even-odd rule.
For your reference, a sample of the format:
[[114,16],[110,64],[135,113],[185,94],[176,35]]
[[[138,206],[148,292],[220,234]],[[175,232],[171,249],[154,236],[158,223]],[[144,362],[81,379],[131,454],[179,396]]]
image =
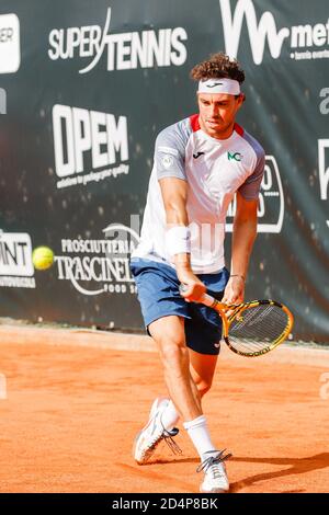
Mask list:
[[[224,455],[226,449],[205,453],[204,461],[197,467],[196,472],[204,472],[204,480],[200,491],[207,493],[226,493],[229,491],[229,482],[224,461],[231,457],[231,454]],[[209,455],[209,457],[206,457]]]

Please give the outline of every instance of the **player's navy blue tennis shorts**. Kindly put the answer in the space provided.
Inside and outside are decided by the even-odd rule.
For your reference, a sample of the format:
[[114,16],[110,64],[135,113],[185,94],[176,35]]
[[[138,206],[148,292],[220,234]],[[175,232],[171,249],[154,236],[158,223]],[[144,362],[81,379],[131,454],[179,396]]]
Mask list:
[[[138,300],[146,329],[155,320],[175,314],[185,319],[186,345],[201,354],[219,354],[222,320],[212,308],[186,302],[179,291],[175,270],[166,263],[134,258],[131,271],[137,285]],[[224,267],[215,274],[200,274],[207,293],[220,300],[229,273]]]

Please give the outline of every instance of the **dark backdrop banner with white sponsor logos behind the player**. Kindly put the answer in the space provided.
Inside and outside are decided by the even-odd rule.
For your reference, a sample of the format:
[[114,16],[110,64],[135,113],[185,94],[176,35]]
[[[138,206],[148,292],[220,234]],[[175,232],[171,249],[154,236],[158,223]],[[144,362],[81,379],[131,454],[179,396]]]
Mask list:
[[0,316],[143,328],[128,260],[155,138],[196,112],[190,69],[225,50],[247,75],[238,122],[266,152],[247,298],[328,342],[328,41],[322,0],[2,0]]

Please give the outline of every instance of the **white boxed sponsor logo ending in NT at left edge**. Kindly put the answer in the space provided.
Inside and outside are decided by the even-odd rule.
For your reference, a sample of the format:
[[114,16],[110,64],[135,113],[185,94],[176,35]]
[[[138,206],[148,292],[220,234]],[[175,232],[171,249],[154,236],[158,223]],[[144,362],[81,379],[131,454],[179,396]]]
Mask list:
[[30,234],[0,231],[0,286],[35,288],[33,275]]

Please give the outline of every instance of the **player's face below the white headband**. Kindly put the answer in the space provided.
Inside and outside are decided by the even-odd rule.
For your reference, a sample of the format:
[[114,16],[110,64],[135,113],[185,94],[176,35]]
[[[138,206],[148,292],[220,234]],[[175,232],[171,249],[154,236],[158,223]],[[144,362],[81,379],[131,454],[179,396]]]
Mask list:
[[201,128],[213,138],[228,138],[243,100],[243,94],[235,96],[226,93],[198,93]]

